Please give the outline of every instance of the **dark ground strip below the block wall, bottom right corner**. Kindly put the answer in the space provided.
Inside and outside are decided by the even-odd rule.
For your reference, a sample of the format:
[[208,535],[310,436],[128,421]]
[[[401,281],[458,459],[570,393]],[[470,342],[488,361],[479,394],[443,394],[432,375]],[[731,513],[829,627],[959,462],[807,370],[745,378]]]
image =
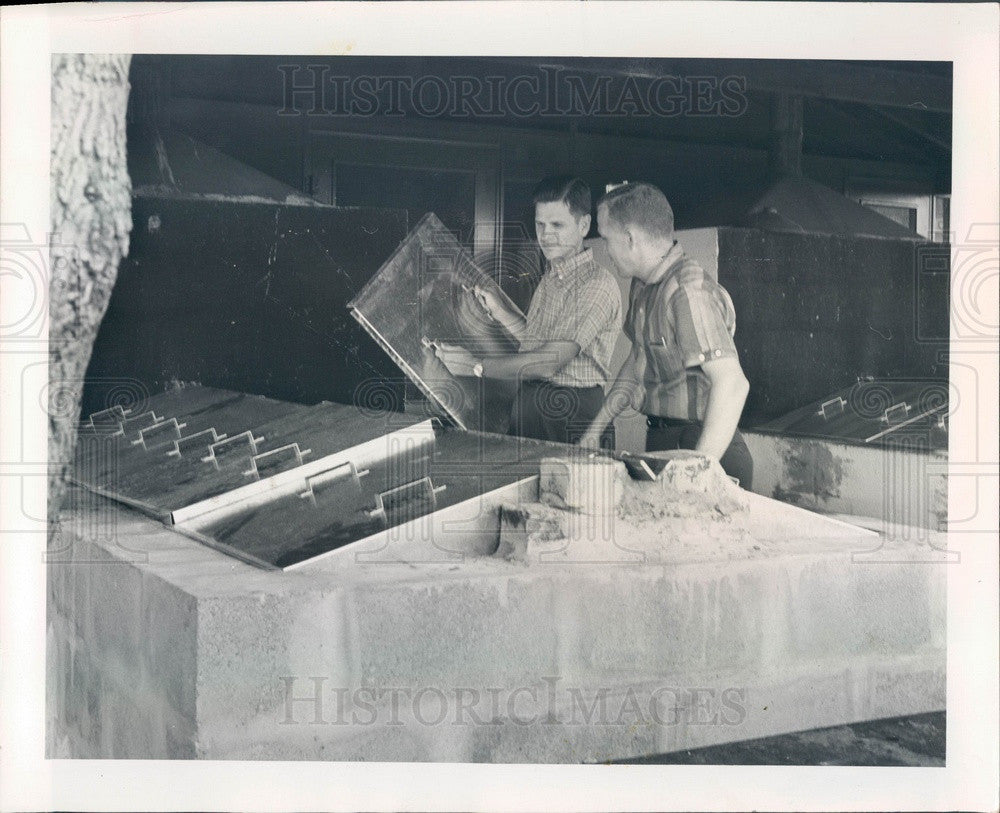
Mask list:
[[938,711],[625,759],[615,764],[943,768],[945,733],[945,712]]

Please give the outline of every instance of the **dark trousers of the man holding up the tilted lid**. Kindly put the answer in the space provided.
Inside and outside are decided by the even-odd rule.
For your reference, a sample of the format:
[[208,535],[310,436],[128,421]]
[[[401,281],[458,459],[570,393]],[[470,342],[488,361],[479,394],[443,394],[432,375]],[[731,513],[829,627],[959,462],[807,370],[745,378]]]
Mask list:
[[[507,433],[522,438],[576,443],[604,404],[600,387],[562,387],[550,381],[525,381],[517,388]],[[601,435],[601,448],[615,448],[615,428]]]

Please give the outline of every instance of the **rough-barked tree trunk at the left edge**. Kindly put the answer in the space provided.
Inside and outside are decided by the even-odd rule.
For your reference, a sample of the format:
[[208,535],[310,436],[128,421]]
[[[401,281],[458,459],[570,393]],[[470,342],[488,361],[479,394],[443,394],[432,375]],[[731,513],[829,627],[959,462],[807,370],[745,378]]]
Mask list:
[[83,377],[132,229],[125,160],[131,57],[52,58],[49,517],[76,444]]

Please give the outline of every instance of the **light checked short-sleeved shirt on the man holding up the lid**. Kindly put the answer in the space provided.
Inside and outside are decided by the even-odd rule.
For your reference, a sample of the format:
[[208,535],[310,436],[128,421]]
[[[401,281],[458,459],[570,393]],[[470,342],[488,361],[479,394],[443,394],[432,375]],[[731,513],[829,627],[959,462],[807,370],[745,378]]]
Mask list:
[[564,387],[603,387],[621,326],[618,281],[588,248],[549,265],[531,298],[521,349],[553,340],[576,342],[579,354],[550,380]]

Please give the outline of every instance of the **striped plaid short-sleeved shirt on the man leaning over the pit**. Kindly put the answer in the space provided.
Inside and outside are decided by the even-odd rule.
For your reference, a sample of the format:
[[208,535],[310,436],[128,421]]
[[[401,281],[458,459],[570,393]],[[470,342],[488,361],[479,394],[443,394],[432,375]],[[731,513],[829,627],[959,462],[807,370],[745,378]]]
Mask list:
[[738,358],[736,311],[725,288],[684,254],[681,244],[663,258],[663,275],[632,280],[625,335],[645,354],[642,411],[646,415],[704,420],[711,383],[701,365]]

